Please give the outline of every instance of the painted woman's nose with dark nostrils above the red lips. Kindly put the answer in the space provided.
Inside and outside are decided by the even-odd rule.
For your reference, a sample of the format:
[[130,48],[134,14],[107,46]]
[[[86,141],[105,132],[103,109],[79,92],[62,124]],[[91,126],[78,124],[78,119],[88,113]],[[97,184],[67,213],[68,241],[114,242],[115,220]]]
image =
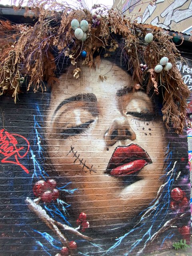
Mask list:
[[135,140],[136,134],[129,125],[127,119],[116,119],[105,134],[107,146],[113,146],[120,140]]

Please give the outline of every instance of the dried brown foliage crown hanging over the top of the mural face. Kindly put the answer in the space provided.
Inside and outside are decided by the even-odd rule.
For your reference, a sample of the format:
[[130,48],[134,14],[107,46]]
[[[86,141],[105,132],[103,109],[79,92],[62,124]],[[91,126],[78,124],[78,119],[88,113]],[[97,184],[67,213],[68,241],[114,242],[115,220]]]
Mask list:
[[[148,66],[147,93],[154,90],[158,94],[163,93],[163,120],[169,129],[170,124],[178,133],[182,133],[186,125],[187,101],[190,92],[182,80],[177,69],[176,62],[183,61],[178,53],[171,36],[162,28],[147,24],[138,24],[136,20],[130,20],[118,10],[100,8],[96,14],[100,14],[100,26],[92,26],[92,13],[86,9],[74,10],[63,8],[62,13],[50,12],[44,8],[36,8],[38,21],[34,26],[11,24],[1,21],[0,24],[0,86],[1,94],[12,94],[15,101],[21,90],[21,85],[28,80],[28,89],[34,86],[34,92],[39,87],[44,90],[43,81],[54,86],[58,81],[56,62],[60,58],[69,58],[74,65],[74,79],[78,78],[81,70],[76,67],[76,61],[80,53],[85,50],[87,55],[84,65],[96,68],[99,64],[98,56],[93,58],[95,51],[100,48],[106,50],[105,58],[110,52],[121,48],[121,55],[128,62],[128,69],[132,69],[136,83],[144,81],[147,71],[142,71],[140,64]],[[87,38],[84,42],[77,40],[71,21],[77,19],[87,20],[89,23]],[[149,44],[144,41],[147,33],[153,34],[153,40]],[[124,40],[122,48],[114,38],[120,35]],[[53,55],[56,49],[57,55]],[[168,57],[172,64],[169,72],[154,72],[154,67],[159,64],[162,57]],[[101,82],[104,79],[100,77]],[[105,77],[106,79],[106,77]]]

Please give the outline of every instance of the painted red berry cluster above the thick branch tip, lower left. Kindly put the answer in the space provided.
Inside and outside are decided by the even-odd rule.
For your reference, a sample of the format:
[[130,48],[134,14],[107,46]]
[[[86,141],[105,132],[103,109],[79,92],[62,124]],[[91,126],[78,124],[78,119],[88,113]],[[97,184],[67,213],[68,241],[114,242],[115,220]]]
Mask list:
[[33,193],[45,203],[54,201],[59,196],[59,191],[55,188],[56,185],[57,183],[53,179],[47,180],[47,182],[39,180],[33,187]]

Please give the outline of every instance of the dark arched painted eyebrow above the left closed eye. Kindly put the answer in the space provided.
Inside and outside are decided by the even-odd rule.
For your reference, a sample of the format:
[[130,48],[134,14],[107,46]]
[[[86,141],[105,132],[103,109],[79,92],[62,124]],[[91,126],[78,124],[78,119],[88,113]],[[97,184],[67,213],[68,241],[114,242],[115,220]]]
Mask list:
[[[98,115],[98,109],[97,109],[97,98],[95,94],[93,93],[87,93],[87,94],[78,94],[76,96],[72,96],[64,101],[62,101],[56,110],[54,111],[53,117],[55,116],[56,112],[60,110],[60,108],[70,102],[86,102],[88,103],[88,111],[93,115]],[[53,119],[52,117],[52,119]]]

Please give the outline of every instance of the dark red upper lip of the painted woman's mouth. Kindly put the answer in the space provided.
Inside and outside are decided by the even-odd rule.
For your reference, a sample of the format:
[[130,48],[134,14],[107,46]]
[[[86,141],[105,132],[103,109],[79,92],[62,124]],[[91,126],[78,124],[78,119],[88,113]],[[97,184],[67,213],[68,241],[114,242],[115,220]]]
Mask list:
[[[152,160],[149,155],[137,144],[130,144],[129,146],[118,146],[114,153],[112,154],[111,159],[109,160],[106,172],[110,174],[110,172],[117,168],[118,166],[128,164],[135,160],[145,160],[146,164],[151,164]],[[144,164],[144,165],[146,165]],[[144,167],[144,166],[143,166]],[[141,170],[142,168],[138,169]],[[135,170],[135,172],[137,169]],[[112,174],[113,175],[113,174]],[[125,175],[117,175],[117,176],[125,176]]]

